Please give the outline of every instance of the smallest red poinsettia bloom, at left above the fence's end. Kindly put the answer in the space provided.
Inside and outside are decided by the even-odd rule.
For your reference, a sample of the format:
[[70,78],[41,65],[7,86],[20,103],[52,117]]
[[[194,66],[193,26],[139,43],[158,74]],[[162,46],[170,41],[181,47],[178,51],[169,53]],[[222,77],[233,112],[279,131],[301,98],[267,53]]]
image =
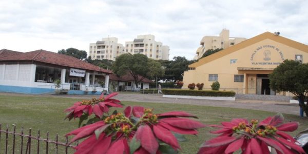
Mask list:
[[99,99],[92,98],[91,100],[76,102],[72,107],[65,110],[68,112],[66,118],[71,120],[72,118],[80,118],[83,113],[88,114],[89,116],[94,113],[101,119],[103,113],[108,112],[110,107],[123,107],[119,100],[110,99],[117,94],[117,92],[113,92],[104,98],[104,94],[102,93]]

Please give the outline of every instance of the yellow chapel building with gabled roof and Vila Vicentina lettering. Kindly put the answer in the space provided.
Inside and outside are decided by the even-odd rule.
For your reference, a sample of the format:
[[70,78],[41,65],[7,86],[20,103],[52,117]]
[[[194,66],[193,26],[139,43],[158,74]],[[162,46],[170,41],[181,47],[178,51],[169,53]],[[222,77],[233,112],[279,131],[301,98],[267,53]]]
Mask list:
[[210,89],[218,81],[220,90],[274,95],[268,74],[286,59],[308,63],[305,57],[307,45],[265,32],[189,65],[183,89],[190,83],[204,83],[203,89]]

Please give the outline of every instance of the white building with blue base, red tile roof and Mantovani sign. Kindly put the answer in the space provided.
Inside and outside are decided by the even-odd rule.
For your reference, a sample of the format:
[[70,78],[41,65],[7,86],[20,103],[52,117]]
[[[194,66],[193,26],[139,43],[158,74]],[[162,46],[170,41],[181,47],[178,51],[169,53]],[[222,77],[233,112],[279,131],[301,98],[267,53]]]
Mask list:
[[[0,91],[45,93],[61,89],[71,94],[101,94],[108,91],[112,71],[102,69],[75,57],[45,50],[18,52],[0,50]],[[104,82],[104,87],[98,86]]]

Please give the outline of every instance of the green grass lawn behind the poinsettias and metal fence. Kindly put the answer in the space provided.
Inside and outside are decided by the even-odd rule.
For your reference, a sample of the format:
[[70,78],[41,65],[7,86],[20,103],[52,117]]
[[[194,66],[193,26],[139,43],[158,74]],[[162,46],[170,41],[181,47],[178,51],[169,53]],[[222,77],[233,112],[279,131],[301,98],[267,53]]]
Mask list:
[[[64,135],[78,127],[78,120],[65,121],[65,112],[77,99],[68,98],[45,98],[45,97],[13,97],[0,95],[0,123],[4,125],[15,124],[18,131],[23,126],[25,130],[32,128],[32,134],[36,136],[37,130],[41,130],[42,138],[46,138],[46,132],[49,131],[51,139],[54,139],[56,133],[59,133],[59,140],[64,142]],[[199,120],[204,124],[219,124],[222,121],[229,121],[233,118],[247,119],[264,119],[269,115],[275,115],[273,112],[223,108],[223,107],[207,107],[197,105],[181,105],[181,104],[160,104],[160,103],[140,103],[140,102],[122,102],[125,105],[139,105],[154,108],[154,112],[161,113],[173,110],[183,110],[191,114],[197,115]],[[285,122],[298,121],[300,127],[298,131],[308,128],[307,118],[300,118],[297,115],[284,114]],[[12,130],[12,129],[10,129]],[[208,133],[212,128],[202,128],[198,136],[187,136],[188,141],[182,142],[182,153],[196,153],[198,147],[209,138],[214,137]],[[293,136],[296,132],[291,133]],[[4,150],[4,134],[1,134],[0,153]],[[19,140],[18,140],[19,141]],[[19,144],[18,144],[19,145]],[[41,146],[45,146],[41,144]],[[10,146],[11,148],[11,146]],[[33,147],[34,148],[34,147]],[[35,151],[36,149],[33,149]],[[44,151],[44,149],[41,149]],[[73,150],[70,151],[72,153]],[[59,151],[59,153],[64,153]]]

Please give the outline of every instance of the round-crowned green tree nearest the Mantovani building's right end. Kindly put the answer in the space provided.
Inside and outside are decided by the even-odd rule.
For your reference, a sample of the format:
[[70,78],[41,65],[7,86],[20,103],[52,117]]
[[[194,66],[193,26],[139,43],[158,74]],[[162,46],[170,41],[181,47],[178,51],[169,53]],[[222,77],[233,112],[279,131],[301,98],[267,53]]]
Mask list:
[[138,83],[141,82],[149,72],[148,57],[140,53],[133,55],[122,54],[115,59],[112,70],[120,76],[130,73],[136,87],[138,87]]

